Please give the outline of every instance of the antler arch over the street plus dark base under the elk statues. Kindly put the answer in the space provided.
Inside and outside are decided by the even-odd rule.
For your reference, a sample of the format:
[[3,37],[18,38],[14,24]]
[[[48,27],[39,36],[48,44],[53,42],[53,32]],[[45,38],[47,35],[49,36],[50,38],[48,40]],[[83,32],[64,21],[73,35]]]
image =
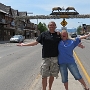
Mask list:
[[[66,9],[65,9],[66,10]],[[77,11],[76,11],[77,12]],[[30,15],[30,16],[16,16],[15,20],[19,19],[73,19],[73,18],[90,18],[90,14],[64,14],[62,12],[51,13],[50,15]]]

